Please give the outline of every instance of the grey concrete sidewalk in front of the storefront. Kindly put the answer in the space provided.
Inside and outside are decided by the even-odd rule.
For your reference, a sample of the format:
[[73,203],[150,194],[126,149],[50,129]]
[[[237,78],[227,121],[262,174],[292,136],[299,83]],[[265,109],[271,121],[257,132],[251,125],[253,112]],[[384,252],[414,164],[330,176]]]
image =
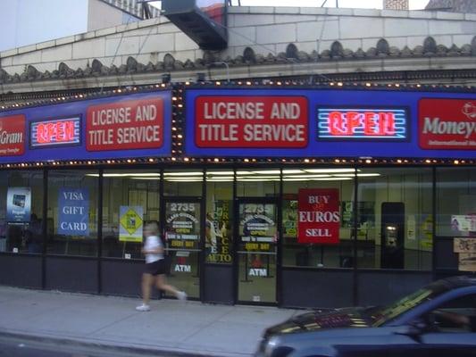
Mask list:
[[302,311],[256,306],[59,293],[0,286],[0,336],[128,347],[145,352],[238,357],[263,329]]

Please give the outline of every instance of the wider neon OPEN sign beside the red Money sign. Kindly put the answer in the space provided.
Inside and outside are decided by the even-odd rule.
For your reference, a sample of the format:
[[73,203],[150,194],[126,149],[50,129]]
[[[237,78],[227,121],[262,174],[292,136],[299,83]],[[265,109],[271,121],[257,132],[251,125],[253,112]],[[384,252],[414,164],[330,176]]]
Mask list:
[[405,108],[319,108],[318,137],[406,140]]

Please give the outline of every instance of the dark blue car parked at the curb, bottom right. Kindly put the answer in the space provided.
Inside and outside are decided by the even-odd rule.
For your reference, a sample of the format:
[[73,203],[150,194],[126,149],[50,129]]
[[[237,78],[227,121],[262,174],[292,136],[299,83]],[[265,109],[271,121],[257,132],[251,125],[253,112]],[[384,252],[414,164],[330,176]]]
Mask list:
[[256,357],[476,357],[476,276],[385,307],[307,312],[267,328]]

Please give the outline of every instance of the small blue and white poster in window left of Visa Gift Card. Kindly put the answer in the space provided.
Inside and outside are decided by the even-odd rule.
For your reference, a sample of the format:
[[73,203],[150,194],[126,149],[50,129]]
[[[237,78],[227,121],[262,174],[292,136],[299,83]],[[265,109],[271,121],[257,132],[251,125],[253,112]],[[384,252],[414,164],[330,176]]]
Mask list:
[[6,194],[6,221],[29,222],[31,216],[31,188],[8,187]]

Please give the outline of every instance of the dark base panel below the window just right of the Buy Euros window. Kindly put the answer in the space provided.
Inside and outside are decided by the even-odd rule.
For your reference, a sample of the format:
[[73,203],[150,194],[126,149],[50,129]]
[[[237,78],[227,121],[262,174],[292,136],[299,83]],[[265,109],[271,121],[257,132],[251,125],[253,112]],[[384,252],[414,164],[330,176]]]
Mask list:
[[392,303],[429,284],[432,278],[431,272],[359,271],[357,304],[371,306]]

